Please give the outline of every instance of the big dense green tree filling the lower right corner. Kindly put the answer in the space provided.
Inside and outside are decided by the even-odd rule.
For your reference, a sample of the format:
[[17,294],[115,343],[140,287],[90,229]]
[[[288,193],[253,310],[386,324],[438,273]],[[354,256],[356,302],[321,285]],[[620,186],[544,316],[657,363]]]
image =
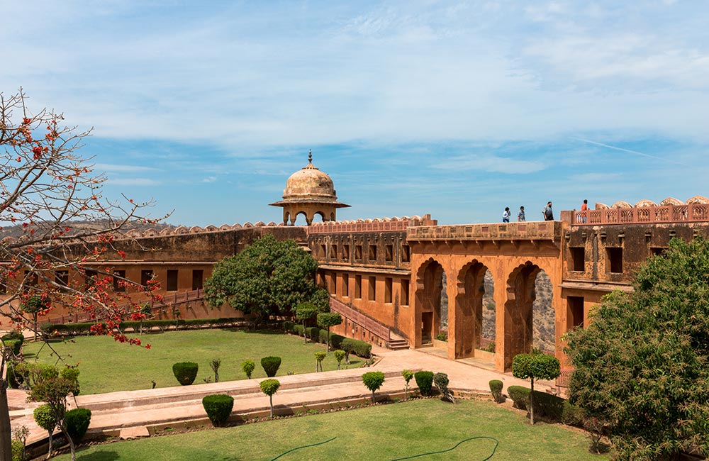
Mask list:
[[608,425],[618,457],[709,455],[709,241],[673,239],[564,336],[571,403]]

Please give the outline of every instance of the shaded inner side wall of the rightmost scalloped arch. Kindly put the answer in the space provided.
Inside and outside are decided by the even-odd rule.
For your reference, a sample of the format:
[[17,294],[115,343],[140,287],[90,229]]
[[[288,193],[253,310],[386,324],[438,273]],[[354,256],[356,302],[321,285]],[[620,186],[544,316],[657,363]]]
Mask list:
[[512,368],[515,355],[532,351],[532,304],[535,301],[535,282],[541,267],[530,261],[519,265],[507,279],[505,302],[505,370]]

